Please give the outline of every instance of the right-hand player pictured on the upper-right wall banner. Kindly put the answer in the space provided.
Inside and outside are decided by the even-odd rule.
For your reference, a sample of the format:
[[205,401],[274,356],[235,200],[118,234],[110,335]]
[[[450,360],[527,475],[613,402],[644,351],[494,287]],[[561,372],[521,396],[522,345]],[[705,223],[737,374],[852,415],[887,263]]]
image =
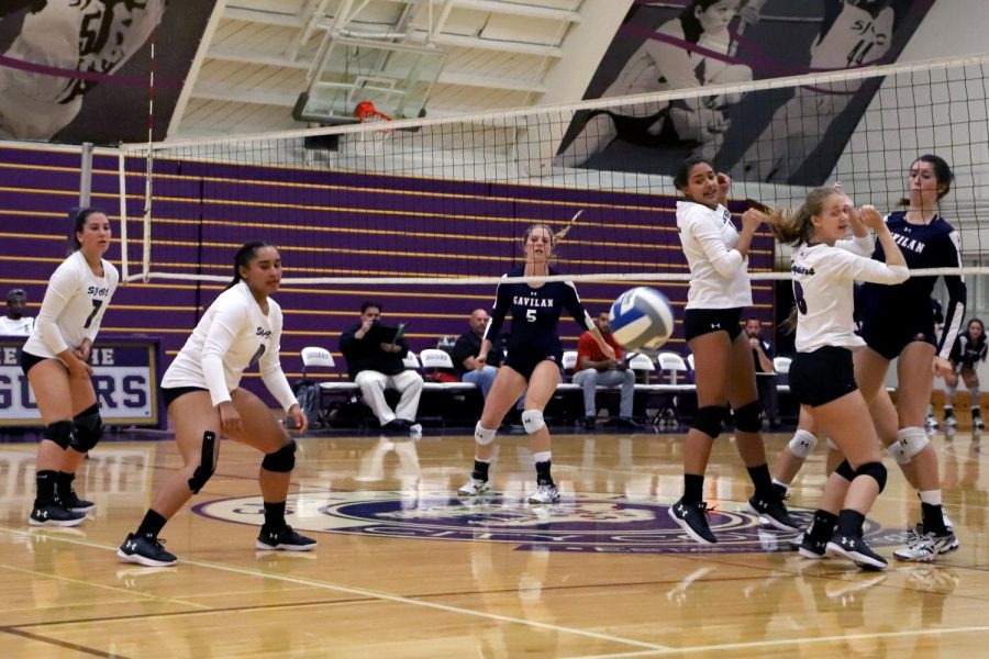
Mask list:
[[[821,32],[811,46],[811,71],[880,64],[892,43],[890,0],[826,0]],[[811,156],[862,80],[798,87],[742,156],[740,180],[786,183]]]

